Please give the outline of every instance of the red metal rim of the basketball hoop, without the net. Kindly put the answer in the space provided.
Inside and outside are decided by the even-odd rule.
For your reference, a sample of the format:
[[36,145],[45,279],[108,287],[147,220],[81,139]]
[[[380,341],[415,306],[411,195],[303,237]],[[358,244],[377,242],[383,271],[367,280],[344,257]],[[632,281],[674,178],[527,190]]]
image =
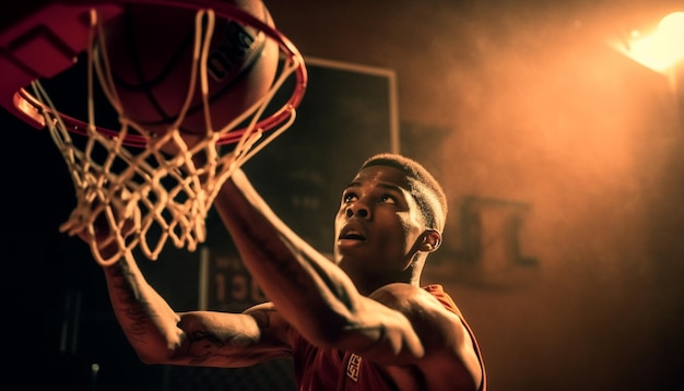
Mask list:
[[[73,1],[71,3],[74,3]],[[190,10],[199,10],[202,8],[213,9],[217,16],[224,19],[235,19],[241,23],[256,27],[257,29],[263,31],[270,38],[274,39],[280,47],[281,52],[284,52],[290,61],[296,61],[297,69],[294,71],[294,75],[296,79],[293,92],[283,106],[278,109],[275,112],[269,115],[267,118],[259,120],[256,123],[257,129],[262,129],[263,131],[268,131],[273,129],[274,127],[285,122],[291,116],[293,116],[293,111],[296,107],[299,106],[302,99],[304,97],[304,92],[307,85],[307,71],[304,63],[304,59],[299,54],[296,46],[285,37],[278,29],[269,26],[251,14],[222,1],[214,0],[193,0],[191,3],[184,2],[179,0],[121,0],[121,1],[84,1],[84,4],[123,4],[123,3],[151,3],[151,4],[160,4],[160,5],[170,5],[176,8],[186,8]],[[13,94],[11,100],[11,105],[13,107],[8,107],[10,111],[17,115],[17,117],[22,118],[24,121],[31,123],[36,128],[44,128],[46,126],[45,120],[43,118],[42,112],[49,112],[52,116],[59,116],[63,123],[67,127],[67,130],[73,133],[87,135],[89,123],[80,120],[78,118],[73,118],[63,112],[51,110],[49,107],[45,106],[38,98],[36,98],[33,94],[31,94],[25,88],[21,88],[17,92],[11,92]],[[268,103],[266,103],[268,104]],[[36,116],[37,115],[37,116]],[[120,133],[116,130],[96,127],[97,131],[106,137],[118,137]],[[240,140],[243,134],[251,127],[245,127],[239,129],[234,129],[222,135],[219,140],[219,144],[232,144],[236,143]],[[144,147],[146,145],[146,139],[143,135],[139,134],[127,134],[125,140],[122,141],[125,145],[135,146],[135,147]]]

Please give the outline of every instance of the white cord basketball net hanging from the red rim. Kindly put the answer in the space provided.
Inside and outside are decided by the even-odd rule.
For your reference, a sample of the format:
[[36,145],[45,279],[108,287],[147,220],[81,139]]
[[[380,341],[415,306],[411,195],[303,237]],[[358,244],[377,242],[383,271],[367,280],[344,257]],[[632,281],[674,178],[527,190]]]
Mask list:
[[[84,145],[76,145],[71,137],[73,125],[64,121],[64,116],[55,108],[40,83],[34,81],[31,85],[35,98],[46,108],[43,116],[75,188],[76,206],[59,229],[69,235],[85,229],[90,234],[91,251],[102,265],[116,262],[135,248],[146,258],[156,260],[168,240],[177,248],[194,251],[207,238],[207,215],[225,180],[295,119],[295,107],[306,83],[304,61],[296,49],[283,45],[284,38],[273,31],[269,34],[274,37],[270,38],[280,40],[283,64],[279,67],[270,91],[231,123],[212,129],[207,57],[214,20],[213,10],[197,11],[192,74],[189,75],[191,82],[186,104],[177,121],[161,134],[148,131],[127,117],[117,96],[103,43],[103,24],[95,10],[91,11],[87,47],[87,127],[80,130],[86,137]],[[99,45],[96,45],[98,39]],[[96,50],[104,52],[97,54]],[[268,104],[292,74],[298,80],[293,97],[279,112],[268,117],[264,112]],[[116,132],[105,132],[96,127],[95,76],[118,114],[120,128]],[[198,76],[199,86],[196,85]],[[197,87],[203,97],[208,128],[205,134],[199,134],[189,144],[184,140],[179,125]],[[238,129],[244,123],[247,126]],[[135,146],[142,149],[130,147],[130,140],[140,140]],[[221,154],[219,147],[226,143],[234,144],[234,149]],[[108,226],[104,238],[103,220]],[[113,244],[118,250],[110,253]],[[106,256],[102,251],[104,248],[107,248]]]

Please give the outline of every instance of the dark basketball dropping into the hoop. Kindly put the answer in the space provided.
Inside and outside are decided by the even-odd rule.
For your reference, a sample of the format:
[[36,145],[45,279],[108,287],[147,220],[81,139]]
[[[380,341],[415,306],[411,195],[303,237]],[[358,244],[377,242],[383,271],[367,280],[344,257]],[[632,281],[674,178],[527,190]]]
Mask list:
[[[260,0],[228,2],[274,26]],[[188,98],[191,100],[179,130],[204,133],[208,126],[219,130],[262,97],[273,82],[278,44],[257,28],[216,12],[207,60],[211,107],[211,123],[207,123],[199,68],[192,74],[196,13],[192,9],[130,3],[105,25],[104,45],[118,100],[125,116],[150,132],[163,132],[176,122]],[[197,84],[190,97],[193,79]]]

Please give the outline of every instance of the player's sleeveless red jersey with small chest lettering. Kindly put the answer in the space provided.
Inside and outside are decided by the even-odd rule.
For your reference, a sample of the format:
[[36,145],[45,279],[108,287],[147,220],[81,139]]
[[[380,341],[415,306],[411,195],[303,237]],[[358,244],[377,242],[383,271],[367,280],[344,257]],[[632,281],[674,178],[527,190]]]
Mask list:
[[[424,287],[441,305],[456,313],[473,341],[473,348],[482,368],[480,391],[486,391],[486,376],[480,347],[468,323],[463,319],[451,297],[439,284]],[[381,366],[364,360],[354,353],[342,353],[334,349],[320,349],[308,343],[298,333],[293,344],[295,381],[299,391],[385,391],[401,390]],[[416,374],[416,377],[421,375]],[[416,383],[418,381],[416,380]]]

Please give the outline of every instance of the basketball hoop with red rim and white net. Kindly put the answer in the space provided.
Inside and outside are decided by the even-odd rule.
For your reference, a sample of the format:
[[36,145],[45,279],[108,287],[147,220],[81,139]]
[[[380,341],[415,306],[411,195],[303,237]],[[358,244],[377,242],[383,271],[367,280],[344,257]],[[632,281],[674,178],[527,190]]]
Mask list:
[[[240,7],[249,2],[241,1]],[[261,5],[259,0],[251,2]],[[120,83],[113,76],[116,66],[107,52],[110,44],[106,40],[106,26],[130,4],[174,8],[191,12],[194,17],[187,93],[181,96],[182,105],[178,106],[177,112],[162,126],[152,127],[141,120],[143,116],[135,112],[137,107],[127,106]],[[156,260],[169,239],[177,248],[194,251],[207,237],[205,218],[224,181],[295,120],[296,107],[307,83],[302,55],[268,21],[226,1],[91,0],[83,4],[71,0],[55,7],[74,16],[86,11],[90,19],[85,29],[72,25],[70,28],[58,26],[51,32],[62,34],[64,42],[78,42],[73,37],[74,31],[87,32],[87,40],[83,39],[85,44],[82,48],[87,54],[87,118],[79,119],[57,109],[52,93],[45,88],[42,80],[59,73],[57,66],[50,71],[27,72],[39,67],[22,58],[19,50],[12,51],[13,44],[26,40],[30,34],[23,33],[30,28],[24,28],[22,24],[0,33],[3,49],[0,67],[7,68],[9,74],[13,71],[23,78],[30,75],[32,80],[30,86],[19,88],[9,85],[9,82],[1,84],[3,91],[0,94],[5,95],[0,98],[2,105],[17,117],[35,128],[47,128],[68,165],[76,206],[60,226],[60,232],[76,235],[85,229],[92,237],[93,256],[103,265],[111,264],[133,249],[140,249],[146,258]],[[52,26],[49,14],[45,9],[34,13],[36,25]],[[160,13],[160,17],[163,16]],[[27,20],[25,23],[31,24]],[[239,112],[220,126],[216,126],[214,112],[229,111],[231,107],[212,103],[214,96],[211,96],[209,87],[208,57],[214,45],[212,39],[217,21],[239,23],[249,33],[250,43],[251,38],[255,42],[266,40],[278,51],[276,66],[272,78],[268,76],[266,91],[249,102],[240,102],[247,107],[240,107]],[[71,51],[66,51],[78,52],[78,45],[72,45]],[[20,67],[16,67],[17,63]],[[63,64],[61,68],[64,68]],[[0,71],[8,74],[5,69]],[[240,72],[255,71],[247,69]],[[102,87],[116,110],[116,128],[96,121],[96,85]],[[278,93],[287,95],[276,97]],[[189,118],[193,114],[190,106],[193,102],[201,110],[191,122]],[[197,131],[196,123],[203,123],[201,131]],[[228,147],[229,151],[221,152]],[[95,223],[103,218],[107,222],[108,236],[104,242],[101,238],[98,245]],[[110,248],[113,242],[116,242],[118,251],[104,256],[102,248]]]

